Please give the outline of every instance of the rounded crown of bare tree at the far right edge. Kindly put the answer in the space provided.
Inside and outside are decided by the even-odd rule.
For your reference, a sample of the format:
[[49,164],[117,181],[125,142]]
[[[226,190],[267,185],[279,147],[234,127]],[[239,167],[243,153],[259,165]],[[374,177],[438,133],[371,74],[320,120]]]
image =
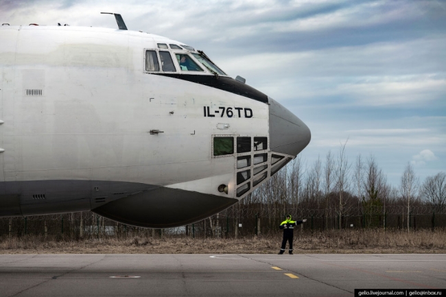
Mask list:
[[446,206],[446,173],[428,176],[421,188],[421,195],[433,206],[443,209]]

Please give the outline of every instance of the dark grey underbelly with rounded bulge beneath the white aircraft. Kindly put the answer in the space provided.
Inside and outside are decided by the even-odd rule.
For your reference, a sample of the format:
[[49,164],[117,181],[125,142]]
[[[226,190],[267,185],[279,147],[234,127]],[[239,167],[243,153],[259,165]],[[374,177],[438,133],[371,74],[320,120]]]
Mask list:
[[171,228],[197,222],[236,202],[233,198],[134,182],[0,183],[0,217],[93,211],[132,226]]

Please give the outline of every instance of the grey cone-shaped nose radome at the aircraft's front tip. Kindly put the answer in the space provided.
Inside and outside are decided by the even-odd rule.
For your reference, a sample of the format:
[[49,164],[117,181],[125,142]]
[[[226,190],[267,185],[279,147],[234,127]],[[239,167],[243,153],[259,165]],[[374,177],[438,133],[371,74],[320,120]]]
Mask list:
[[301,119],[279,102],[270,102],[270,147],[272,152],[297,156],[312,139],[312,133]]

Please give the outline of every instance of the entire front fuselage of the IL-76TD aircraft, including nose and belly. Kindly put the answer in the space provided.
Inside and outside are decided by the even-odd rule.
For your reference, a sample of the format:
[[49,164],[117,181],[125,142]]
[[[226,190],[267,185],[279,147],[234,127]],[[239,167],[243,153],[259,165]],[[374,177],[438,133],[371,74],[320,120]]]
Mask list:
[[291,112],[176,40],[34,26],[0,27],[0,40],[0,216],[181,226],[244,198],[309,142]]

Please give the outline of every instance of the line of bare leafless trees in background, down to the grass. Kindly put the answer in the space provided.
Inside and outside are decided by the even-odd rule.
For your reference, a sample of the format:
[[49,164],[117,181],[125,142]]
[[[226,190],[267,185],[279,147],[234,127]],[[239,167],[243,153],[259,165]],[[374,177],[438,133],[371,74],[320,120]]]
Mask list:
[[408,163],[397,187],[390,185],[373,156],[350,162],[345,145],[334,155],[304,164],[295,158],[244,200],[189,226],[152,230],[117,224],[91,212],[0,219],[1,236],[28,234],[80,237],[239,237],[278,233],[285,215],[307,218],[299,231],[345,228],[446,227],[446,174],[421,181]]

